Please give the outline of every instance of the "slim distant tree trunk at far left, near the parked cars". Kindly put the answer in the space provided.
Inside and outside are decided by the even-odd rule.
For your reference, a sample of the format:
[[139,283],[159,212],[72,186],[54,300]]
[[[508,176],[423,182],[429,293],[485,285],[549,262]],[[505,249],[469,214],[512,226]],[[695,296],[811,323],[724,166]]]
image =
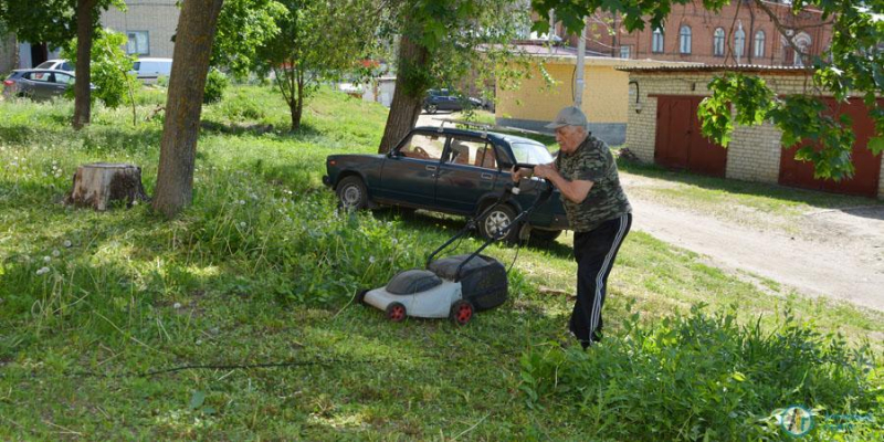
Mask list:
[[74,128],[90,124],[92,118],[92,91],[90,63],[92,60],[92,14],[95,0],[76,2],[76,82],[74,82]]

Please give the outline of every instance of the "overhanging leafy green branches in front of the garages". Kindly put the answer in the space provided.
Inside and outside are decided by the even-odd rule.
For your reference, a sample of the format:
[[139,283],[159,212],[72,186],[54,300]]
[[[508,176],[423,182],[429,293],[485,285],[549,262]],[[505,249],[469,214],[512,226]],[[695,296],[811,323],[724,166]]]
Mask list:
[[[777,31],[791,43],[789,29],[761,0],[751,0],[760,10],[771,15]],[[547,17],[550,9],[570,31],[578,33],[582,18],[597,10],[619,13],[627,30],[641,30],[645,21],[660,27],[674,4],[692,0],[533,0],[532,6]],[[729,0],[702,0],[706,9],[720,12]],[[856,0],[793,0],[791,10],[798,14],[806,8],[822,11],[822,19],[832,22],[832,42],[829,50],[811,57],[813,87],[798,96],[778,97],[760,78],[728,73],[715,78],[709,88],[713,95],[701,105],[698,115],[703,134],[727,146],[734,130],[733,118],[743,125],[769,120],[782,130],[782,145],[791,147],[811,140],[819,149],[804,147],[797,158],[813,161],[818,178],[842,179],[853,175],[850,160],[855,137],[848,117],[834,118],[821,101],[824,95],[838,102],[860,97],[875,122],[875,134],[869,140],[874,154],[884,150],[884,109],[877,98],[884,90],[884,2]],[[538,31],[549,29],[543,19],[535,22]],[[807,55],[807,54],[804,54]],[[732,109],[733,108],[733,115]]]

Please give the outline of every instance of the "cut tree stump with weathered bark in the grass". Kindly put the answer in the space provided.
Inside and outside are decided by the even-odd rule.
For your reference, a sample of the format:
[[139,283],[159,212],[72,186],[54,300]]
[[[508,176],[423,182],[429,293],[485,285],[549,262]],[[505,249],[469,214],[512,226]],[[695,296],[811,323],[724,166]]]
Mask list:
[[141,186],[141,168],[133,165],[93,162],[76,168],[74,189],[65,203],[88,206],[98,211],[107,210],[114,201],[125,201],[131,207],[138,200],[146,201]]

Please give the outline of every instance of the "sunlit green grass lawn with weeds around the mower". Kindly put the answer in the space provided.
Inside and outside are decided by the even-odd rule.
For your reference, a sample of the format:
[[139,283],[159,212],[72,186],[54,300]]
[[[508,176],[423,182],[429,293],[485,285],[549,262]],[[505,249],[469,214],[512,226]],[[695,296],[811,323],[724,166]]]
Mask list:
[[[463,220],[336,211],[325,157],[373,152],[387,115],[344,94],[320,91],[294,134],[270,88],[207,106],[194,202],[176,220],[63,206],[93,161],[140,166],[152,193],[162,101],[140,93],[137,127],[96,107],[82,131],[70,102],[0,102],[2,440],[779,440],[775,410],[796,403],[818,414],[809,440],[882,435],[867,340],[884,315],[761,293],[640,232],[594,352],[556,344],[570,234],[490,248],[515,261],[511,299],[465,327],[354,305]],[[720,182],[678,198],[747,198]],[[824,424],[835,413],[856,417],[852,432]]]

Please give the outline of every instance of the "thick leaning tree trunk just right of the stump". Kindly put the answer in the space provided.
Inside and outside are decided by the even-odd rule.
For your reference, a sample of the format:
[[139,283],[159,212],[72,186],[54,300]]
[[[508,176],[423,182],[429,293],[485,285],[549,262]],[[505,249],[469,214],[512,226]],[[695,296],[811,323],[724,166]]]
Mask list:
[[223,0],[187,0],[178,19],[154,209],[173,217],[193,199],[202,97]]

